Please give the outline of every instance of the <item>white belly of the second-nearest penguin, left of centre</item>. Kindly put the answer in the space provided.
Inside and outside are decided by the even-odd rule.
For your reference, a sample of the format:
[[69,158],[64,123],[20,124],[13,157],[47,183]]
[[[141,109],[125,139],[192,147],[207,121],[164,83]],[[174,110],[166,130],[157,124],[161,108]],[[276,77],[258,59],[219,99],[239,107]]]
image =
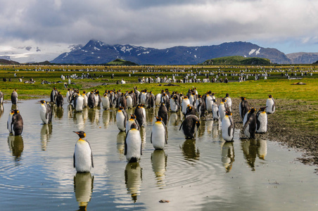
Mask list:
[[139,160],[141,157],[141,136],[137,129],[130,129],[126,138],[127,153],[126,158],[130,161],[131,158]]

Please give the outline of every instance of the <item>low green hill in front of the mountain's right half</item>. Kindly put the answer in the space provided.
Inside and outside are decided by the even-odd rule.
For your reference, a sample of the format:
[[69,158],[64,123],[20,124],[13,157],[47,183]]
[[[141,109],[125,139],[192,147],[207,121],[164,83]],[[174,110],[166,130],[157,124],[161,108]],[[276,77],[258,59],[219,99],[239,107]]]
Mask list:
[[205,60],[201,65],[269,65],[270,63],[270,60],[267,58],[226,56]]

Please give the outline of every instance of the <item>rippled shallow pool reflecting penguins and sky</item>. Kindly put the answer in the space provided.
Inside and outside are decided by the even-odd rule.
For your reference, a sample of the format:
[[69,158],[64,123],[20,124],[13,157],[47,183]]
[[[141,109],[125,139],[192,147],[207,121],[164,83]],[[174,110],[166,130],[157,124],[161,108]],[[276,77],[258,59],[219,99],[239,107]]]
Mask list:
[[[22,136],[8,135],[11,103],[0,109],[1,210],[318,210],[314,167],[295,162],[300,153],[279,143],[240,139],[239,130],[224,143],[219,123],[210,120],[201,121],[196,140],[186,140],[180,115],[171,113],[168,145],[155,151],[153,110],[146,110],[143,155],[130,164],[115,110],[73,113],[64,105],[46,125],[37,101],[18,103]],[[72,167],[77,130],[91,143],[91,173]]]

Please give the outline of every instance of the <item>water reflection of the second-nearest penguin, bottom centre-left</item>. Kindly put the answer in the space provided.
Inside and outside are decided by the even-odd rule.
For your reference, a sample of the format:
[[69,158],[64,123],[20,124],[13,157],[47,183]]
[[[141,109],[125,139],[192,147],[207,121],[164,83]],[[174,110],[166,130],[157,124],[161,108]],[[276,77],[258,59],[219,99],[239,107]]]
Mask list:
[[139,162],[128,162],[125,169],[125,184],[134,203],[136,203],[137,196],[140,193],[141,180],[142,173]]

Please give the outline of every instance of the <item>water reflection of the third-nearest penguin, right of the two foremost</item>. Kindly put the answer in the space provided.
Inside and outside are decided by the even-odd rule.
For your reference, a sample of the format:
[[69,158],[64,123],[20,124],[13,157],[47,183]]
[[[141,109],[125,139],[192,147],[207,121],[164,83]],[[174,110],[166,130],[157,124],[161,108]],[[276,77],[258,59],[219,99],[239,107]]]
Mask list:
[[167,167],[167,155],[163,150],[155,150],[151,154],[151,163],[153,165],[153,172],[155,172],[155,179],[159,187],[165,186],[165,172]]

